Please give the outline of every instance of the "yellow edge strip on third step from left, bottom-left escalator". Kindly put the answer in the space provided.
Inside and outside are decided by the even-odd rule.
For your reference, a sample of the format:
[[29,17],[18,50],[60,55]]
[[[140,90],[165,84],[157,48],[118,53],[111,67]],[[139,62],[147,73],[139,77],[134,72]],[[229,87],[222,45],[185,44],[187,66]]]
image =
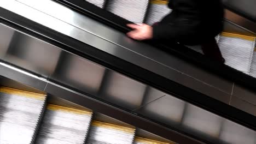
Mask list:
[[103,123],[103,122],[99,122],[99,121],[93,121],[92,125],[96,126],[96,127],[120,130],[120,131],[124,131],[125,133],[129,133],[129,134],[135,133],[135,129],[126,128],[126,127],[122,127],[122,126],[115,125],[115,124],[110,124],[110,123]]

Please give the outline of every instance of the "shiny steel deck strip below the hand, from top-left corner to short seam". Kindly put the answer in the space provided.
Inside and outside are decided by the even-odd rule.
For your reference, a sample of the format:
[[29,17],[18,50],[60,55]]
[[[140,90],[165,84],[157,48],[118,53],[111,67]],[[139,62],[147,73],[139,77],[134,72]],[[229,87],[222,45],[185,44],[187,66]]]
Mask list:
[[[231,93],[231,82],[220,79],[217,75],[210,74],[199,67],[193,66],[195,73],[190,73],[188,68],[191,65],[190,63],[152,46],[133,41],[127,38],[125,34],[75,13],[63,5],[49,0],[19,0],[19,2],[10,0],[2,1],[0,4],[1,7],[14,11],[14,13],[18,13],[57,32],[69,35],[182,85],[186,85],[188,80],[192,83],[199,83],[200,86],[193,87],[196,88],[196,91],[202,92],[201,89],[213,89],[212,91],[216,92]],[[27,5],[30,5],[30,7]],[[57,13],[56,9],[58,9]],[[180,69],[181,67],[183,69]],[[204,76],[207,76],[207,79]],[[207,83],[207,85],[203,83]],[[224,83],[224,85],[219,85],[219,83]],[[190,85],[186,86],[191,87]],[[222,95],[226,94],[223,93]],[[228,103],[226,101],[228,99],[226,98],[222,101]]]

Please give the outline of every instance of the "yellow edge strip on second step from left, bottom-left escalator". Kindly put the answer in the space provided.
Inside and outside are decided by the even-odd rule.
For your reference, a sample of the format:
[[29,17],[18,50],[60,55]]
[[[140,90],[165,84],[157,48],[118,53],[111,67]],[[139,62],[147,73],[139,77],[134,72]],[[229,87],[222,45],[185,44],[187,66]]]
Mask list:
[[59,106],[59,105],[53,105],[53,104],[48,104],[47,109],[53,110],[53,111],[75,113],[75,114],[79,114],[79,115],[91,115],[92,114],[92,112],[89,112],[89,111],[82,111],[82,110],[72,109],[72,108]]

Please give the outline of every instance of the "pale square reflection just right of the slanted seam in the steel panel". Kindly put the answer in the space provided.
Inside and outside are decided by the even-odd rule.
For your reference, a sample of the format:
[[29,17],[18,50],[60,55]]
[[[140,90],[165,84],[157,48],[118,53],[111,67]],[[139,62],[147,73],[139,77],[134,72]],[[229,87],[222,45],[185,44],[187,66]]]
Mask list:
[[174,125],[181,123],[185,108],[185,102],[171,95],[166,95],[158,100],[141,107],[135,112],[150,117],[155,121]]

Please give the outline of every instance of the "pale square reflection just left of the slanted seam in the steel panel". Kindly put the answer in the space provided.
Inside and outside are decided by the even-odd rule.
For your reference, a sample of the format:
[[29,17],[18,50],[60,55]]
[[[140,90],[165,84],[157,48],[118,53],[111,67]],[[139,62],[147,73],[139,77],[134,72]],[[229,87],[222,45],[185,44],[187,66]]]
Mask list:
[[133,110],[141,106],[146,85],[111,71],[102,86],[100,98]]

